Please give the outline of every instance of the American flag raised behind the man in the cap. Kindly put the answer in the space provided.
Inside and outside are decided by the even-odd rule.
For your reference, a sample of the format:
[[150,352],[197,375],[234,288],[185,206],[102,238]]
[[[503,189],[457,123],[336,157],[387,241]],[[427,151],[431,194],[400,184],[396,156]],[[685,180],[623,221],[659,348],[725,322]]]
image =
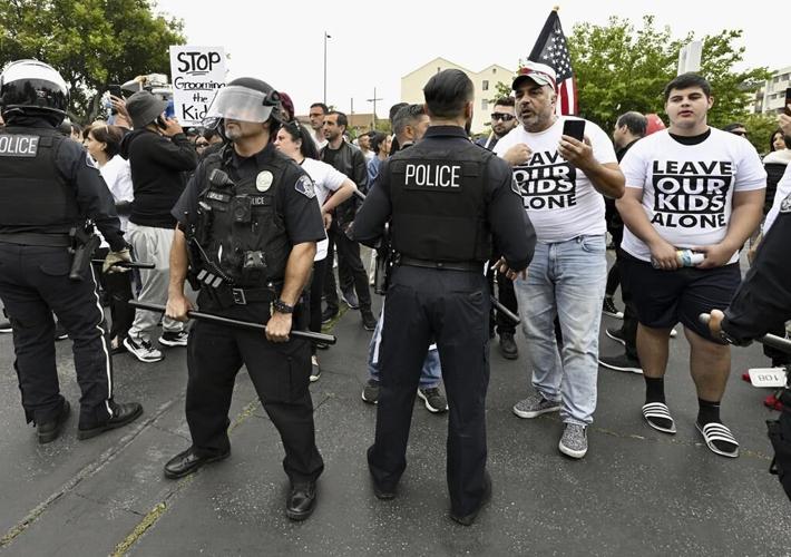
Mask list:
[[558,115],[577,114],[577,84],[574,80],[572,57],[566,46],[566,36],[560,27],[560,18],[553,10],[544,23],[544,29],[533,47],[528,60],[551,66],[557,74],[557,105]]

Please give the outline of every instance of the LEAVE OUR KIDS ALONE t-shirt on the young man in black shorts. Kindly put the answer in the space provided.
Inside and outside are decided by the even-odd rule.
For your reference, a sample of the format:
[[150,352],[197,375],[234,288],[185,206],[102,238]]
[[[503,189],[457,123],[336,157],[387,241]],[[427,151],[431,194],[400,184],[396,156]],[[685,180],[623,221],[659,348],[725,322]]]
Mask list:
[[[750,141],[715,128],[697,145],[683,145],[667,130],[652,134],[626,153],[621,169],[626,187],[643,189],[643,208],[654,229],[680,248],[722,242],[733,192],[766,187],[766,172]],[[628,228],[621,246],[651,261],[648,246]],[[729,263],[738,260],[736,252]]]

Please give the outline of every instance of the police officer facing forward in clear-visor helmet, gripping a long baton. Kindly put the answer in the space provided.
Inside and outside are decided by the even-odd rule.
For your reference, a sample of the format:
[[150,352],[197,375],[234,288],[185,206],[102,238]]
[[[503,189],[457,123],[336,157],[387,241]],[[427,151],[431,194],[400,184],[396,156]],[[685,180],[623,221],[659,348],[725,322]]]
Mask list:
[[[230,140],[195,170],[173,209],[179,221],[170,251],[167,315],[185,320],[189,271],[203,312],[265,322],[266,334],[198,321],[187,344],[186,417],[193,444],[165,466],[180,478],[231,453],[228,407],[234,379],[247,367],[264,410],[285,448],[291,480],[286,516],[307,518],[324,463],[315,446],[309,391],[309,341],[289,332],[306,323],[297,305],[324,224],[313,182],[274,147],[279,94],[254,78],[231,81],[216,96],[209,120]],[[189,257],[189,261],[188,261]],[[304,322],[304,323],[303,323]]]

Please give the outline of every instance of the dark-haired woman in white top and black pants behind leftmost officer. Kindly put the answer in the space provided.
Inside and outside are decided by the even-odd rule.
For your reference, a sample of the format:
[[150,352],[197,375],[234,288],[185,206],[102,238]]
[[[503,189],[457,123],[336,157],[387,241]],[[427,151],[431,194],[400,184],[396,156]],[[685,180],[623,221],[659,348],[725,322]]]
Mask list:
[[[113,194],[116,211],[120,218],[120,227],[126,229],[131,211],[133,189],[129,163],[120,155],[120,140],[124,137],[121,128],[117,126],[91,126],[86,134],[86,148],[99,166],[101,177]],[[100,250],[107,250],[102,247]],[[100,255],[101,257],[105,254]],[[131,299],[131,273],[101,274],[100,282],[110,295],[110,339],[113,352],[124,352],[124,339],[135,319],[135,310],[127,302]]]

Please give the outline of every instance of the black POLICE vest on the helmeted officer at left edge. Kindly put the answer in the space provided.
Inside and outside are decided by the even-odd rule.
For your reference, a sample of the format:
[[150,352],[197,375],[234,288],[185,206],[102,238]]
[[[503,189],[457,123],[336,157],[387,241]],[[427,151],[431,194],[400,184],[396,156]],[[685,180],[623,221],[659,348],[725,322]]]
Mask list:
[[0,226],[68,234],[79,222],[75,189],[55,160],[65,140],[55,129],[0,128]]

